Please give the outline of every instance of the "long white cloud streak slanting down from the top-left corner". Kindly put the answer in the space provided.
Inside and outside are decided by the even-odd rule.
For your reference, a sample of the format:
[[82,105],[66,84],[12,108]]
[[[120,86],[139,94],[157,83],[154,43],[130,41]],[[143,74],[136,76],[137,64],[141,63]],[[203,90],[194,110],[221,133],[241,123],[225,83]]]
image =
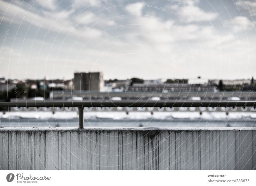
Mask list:
[[[100,30],[96,28],[89,28],[88,26],[83,29],[74,27],[72,22],[69,21],[70,14],[74,11],[72,10],[72,7],[68,11],[49,12],[48,15],[44,12],[45,17],[7,2],[1,2],[0,11],[2,12],[2,10],[6,10],[5,15],[0,15],[0,18],[3,20],[10,21],[13,19],[12,23],[17,24],[20,24],[21,21],[25,21],[38,28],[45,29],[45,33],[60,32],[64,35],[69,34],[76,37],[82,36],[84,38],[91,38],[92,36],[100,33]],[[16,14],[13,15],[13,12],[16,12]],[[85,30],[86,32],[84,32]]]

